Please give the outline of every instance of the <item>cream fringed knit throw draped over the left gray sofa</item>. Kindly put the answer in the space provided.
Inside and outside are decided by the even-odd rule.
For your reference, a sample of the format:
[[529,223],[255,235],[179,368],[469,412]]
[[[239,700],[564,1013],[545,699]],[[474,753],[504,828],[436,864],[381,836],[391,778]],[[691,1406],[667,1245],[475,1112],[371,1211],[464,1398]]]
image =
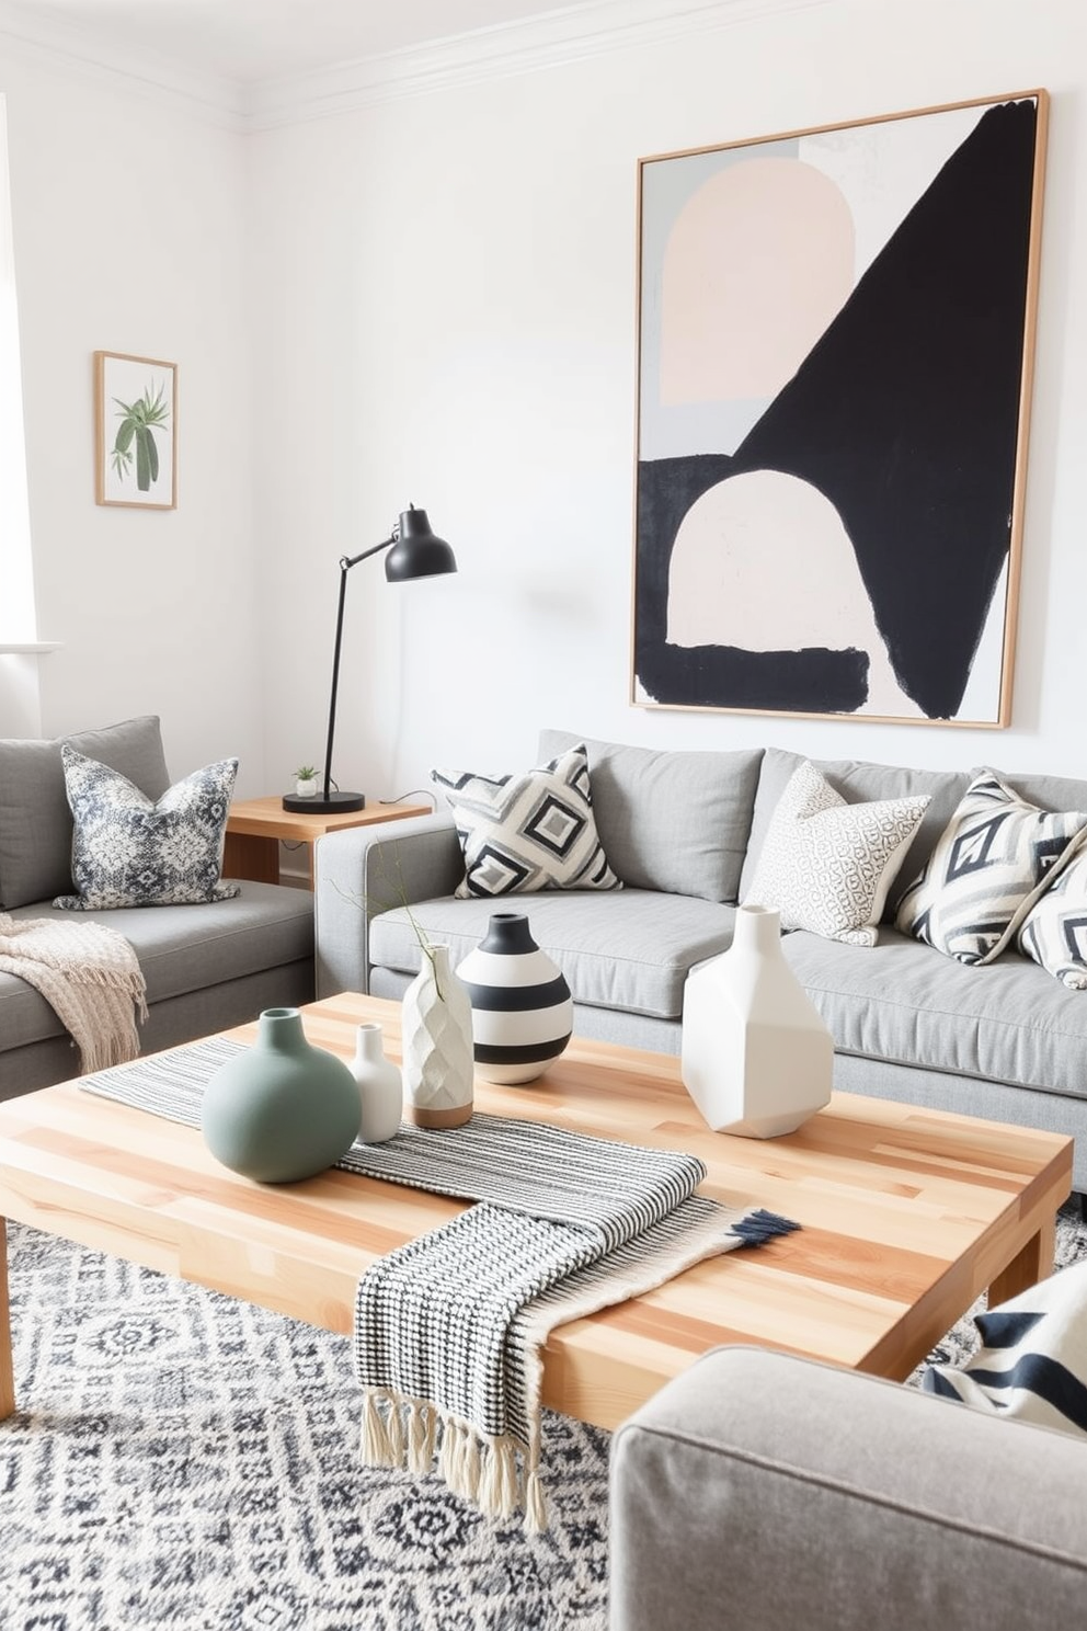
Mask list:
[[80,1050],[81,1075],[139,1055],[145,982],[124,935],[101,923],[0,912],[0,972],[26,980],[54,1008]]

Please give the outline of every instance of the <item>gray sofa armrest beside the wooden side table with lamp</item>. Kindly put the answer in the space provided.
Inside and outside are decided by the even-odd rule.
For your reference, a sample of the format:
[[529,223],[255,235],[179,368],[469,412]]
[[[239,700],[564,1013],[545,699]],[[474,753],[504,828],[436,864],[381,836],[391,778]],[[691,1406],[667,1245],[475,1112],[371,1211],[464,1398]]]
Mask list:
[[453,817],[442,811],[318,840],[313,860],[316,993],[370,990],[370,918],[451,895],[464,876]]

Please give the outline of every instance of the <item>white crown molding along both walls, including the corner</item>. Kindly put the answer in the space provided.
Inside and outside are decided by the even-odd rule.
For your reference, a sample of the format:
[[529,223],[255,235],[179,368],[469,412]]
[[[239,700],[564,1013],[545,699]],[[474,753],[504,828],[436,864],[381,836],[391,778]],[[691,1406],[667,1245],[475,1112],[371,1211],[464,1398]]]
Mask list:
[[0,55],[8,52],[31,65],[145,95],[160,108],[166,103],[223,129],[271,130],[831,3],[834,0],[582,0],[518,23],[243,85],[179,69],[158,52],[104,39],[91,28],[44,18],[18,0],[0,0]]

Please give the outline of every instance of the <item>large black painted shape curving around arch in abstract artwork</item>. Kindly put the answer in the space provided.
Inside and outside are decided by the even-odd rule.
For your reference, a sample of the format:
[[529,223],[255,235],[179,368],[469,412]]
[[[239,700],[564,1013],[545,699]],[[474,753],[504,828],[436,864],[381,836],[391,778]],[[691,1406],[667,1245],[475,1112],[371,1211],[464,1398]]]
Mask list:
[[[1035,142],[1033,98],[988,109],[735,457],[640,463],[636,672],[649,695],[681,700],[650,675],[683,667],[683,648],[660,652],[683,515],[725,475],[777,470],[841,515],[903,690],[932,719],[958,711],[1010,548]],[[823,711],[807,687],[784,705],[769,690],[722,690],[709,706]]]

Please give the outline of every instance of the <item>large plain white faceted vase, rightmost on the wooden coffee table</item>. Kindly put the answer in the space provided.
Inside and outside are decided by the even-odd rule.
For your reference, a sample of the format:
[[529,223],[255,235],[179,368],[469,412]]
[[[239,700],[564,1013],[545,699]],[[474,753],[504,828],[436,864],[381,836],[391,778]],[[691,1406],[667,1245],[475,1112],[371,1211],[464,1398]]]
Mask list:
[[714,1132],[776,1138],[830,1101],[834,1041],[786,962],[774,907],[738,907],[728,951],[688,974],[680,1068]]

